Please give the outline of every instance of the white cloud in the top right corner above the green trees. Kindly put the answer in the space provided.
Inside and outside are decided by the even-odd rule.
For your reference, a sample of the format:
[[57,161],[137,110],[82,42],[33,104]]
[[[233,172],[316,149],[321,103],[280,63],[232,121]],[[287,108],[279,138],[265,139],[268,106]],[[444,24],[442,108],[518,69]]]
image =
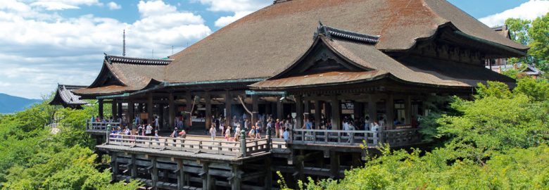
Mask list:
[[549,12],[549,1],[530,0],[520,6],[511,8],[501,13],[494,15],[488,15],[479,20],[490,27],[503,25],[507,18],[521,18],[526,20],[534,20],[541,15],[545,15]]

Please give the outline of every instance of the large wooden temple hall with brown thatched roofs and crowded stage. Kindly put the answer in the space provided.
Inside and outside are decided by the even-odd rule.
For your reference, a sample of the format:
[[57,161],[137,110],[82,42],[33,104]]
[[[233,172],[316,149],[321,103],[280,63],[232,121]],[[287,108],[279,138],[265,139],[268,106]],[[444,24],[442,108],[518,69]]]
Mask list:
[[[191,131],[218,118],[226,126],[255,125],[265,115],[289,120],[287,144],[111,137],[97,146],[113,156],[115,180],[271,189],[274,171],[291,179],[343,177],[361,165],[360,144],[421,144],[418,120],[429,114],[429,97],[470,97],[486,81],[515,87],[485,63],[527,50],[444,0],[274,1],[168,59],[106,55],[96,80],[74,92],[97,99],[101,117],[101,105],[112,103],[122,125],[158,118],[160,131],[179,120]],[[351,121],[354,131],[343,124]],[[365,122],[381,127],[373,132]]]

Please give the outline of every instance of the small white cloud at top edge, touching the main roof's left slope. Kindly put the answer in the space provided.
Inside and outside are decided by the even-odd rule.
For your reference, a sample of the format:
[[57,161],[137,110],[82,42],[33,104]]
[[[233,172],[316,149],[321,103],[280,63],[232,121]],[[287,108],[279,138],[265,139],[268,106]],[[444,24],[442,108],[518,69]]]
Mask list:
[[253,11],[272,4],[270,0],[200,0],[200,2],[210,5],[208,11],[233,13],[233,15],[222,16],[215,20],[217,27],[228,25]]

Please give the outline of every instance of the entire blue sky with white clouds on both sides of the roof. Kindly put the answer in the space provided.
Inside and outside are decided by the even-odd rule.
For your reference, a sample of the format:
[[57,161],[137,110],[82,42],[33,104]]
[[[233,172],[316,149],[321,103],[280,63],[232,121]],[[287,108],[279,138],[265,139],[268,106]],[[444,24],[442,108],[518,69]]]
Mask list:
[[[536,18],[549,1],[449,0],[486,25]],[[61,84],[87,85],[103,52],[163,58],[272,0],[0,0],[0,93],[38,99]],[[154,51],[154,53],[152,52]]]

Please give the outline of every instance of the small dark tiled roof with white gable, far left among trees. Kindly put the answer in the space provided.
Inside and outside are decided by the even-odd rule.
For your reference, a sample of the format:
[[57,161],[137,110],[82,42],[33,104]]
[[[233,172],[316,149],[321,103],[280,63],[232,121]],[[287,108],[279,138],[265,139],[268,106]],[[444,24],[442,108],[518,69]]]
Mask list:
[[88,104],[87,101],[81,100],[80,96],[73,94],[72,91],[83,88],[86,88],[86,86],[58,84],[56,94],[49,102],[49,105],[61,105],[63,107],[81,108],[81,106]]

